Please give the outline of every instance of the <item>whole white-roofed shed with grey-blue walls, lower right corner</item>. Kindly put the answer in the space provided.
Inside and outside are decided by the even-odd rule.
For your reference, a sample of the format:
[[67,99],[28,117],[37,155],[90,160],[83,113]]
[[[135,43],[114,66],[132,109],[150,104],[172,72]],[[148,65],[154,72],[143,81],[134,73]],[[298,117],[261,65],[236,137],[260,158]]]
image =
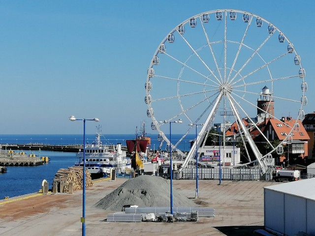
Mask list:
[[[274,185],[271,187],[273,189],[264,188],[264,225],[267,230],[286,236],[295,236],[299,232],[315,235],[313,180]],[[303,188],[300,188],[299,185],[303,183]],[[287,186],[291,186],[291,189]],[[276,190],[277,188],[279,190]],[[294,193],[283,192],[284,189]],[[298,191],[301,191],[301,194],[309,193],[309,195],[308,197],[298,196]]]

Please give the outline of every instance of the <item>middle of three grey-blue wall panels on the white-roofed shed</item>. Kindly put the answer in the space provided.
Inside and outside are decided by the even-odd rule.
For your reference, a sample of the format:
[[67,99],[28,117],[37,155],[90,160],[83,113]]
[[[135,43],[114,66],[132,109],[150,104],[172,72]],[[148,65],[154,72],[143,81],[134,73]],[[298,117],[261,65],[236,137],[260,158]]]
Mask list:
[[306,232],[307,200],[305,198],[284,195],[284,234],[295,236],[298,232]]

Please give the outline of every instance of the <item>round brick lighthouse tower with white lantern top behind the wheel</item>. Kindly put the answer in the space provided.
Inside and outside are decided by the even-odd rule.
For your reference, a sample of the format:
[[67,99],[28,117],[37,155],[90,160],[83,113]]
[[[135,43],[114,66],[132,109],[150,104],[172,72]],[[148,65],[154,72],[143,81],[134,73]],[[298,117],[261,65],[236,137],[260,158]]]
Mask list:
[[262,122],[266,118],[273,118],[275,114],[274,100],[271,98],[270,89],[267,86],[261,89],[260,98],[257,100],[257,119]]

